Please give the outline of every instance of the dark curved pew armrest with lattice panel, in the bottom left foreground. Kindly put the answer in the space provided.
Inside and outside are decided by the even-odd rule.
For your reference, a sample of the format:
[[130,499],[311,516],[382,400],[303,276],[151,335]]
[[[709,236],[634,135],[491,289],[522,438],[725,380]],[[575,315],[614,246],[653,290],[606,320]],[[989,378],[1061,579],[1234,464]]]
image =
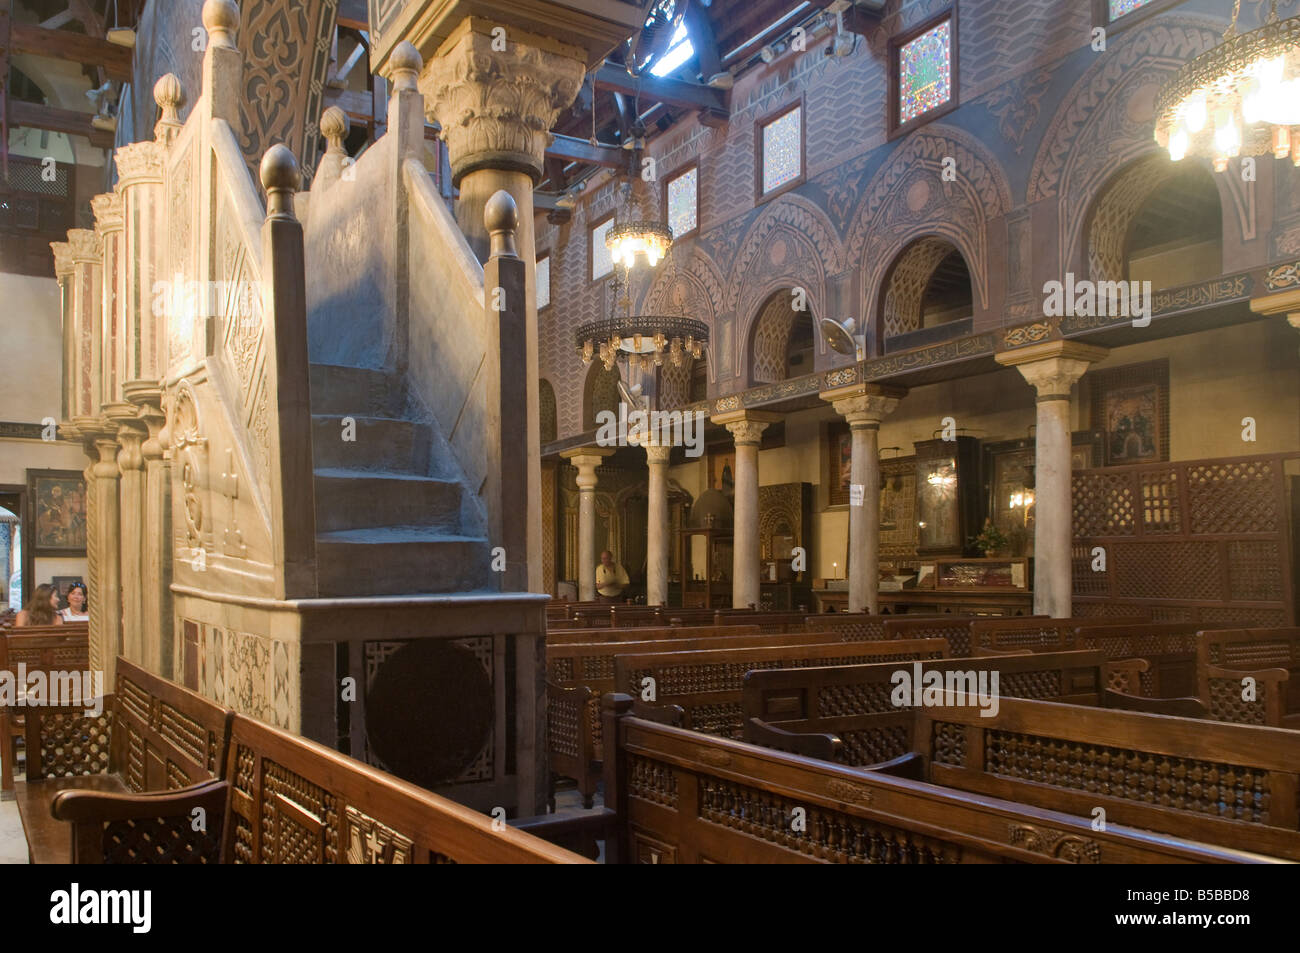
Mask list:
[[62,790],[49,813],[73,826],[73,863],[217,863],[228,781],[146,794]]

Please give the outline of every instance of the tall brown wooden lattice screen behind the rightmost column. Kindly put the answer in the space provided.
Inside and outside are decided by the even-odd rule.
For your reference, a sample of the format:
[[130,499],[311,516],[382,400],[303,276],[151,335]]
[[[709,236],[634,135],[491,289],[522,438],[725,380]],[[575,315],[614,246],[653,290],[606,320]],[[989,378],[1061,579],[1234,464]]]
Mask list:
[[1283,462],[1295,456],[1076,471],[1075,615],[1294,625]]

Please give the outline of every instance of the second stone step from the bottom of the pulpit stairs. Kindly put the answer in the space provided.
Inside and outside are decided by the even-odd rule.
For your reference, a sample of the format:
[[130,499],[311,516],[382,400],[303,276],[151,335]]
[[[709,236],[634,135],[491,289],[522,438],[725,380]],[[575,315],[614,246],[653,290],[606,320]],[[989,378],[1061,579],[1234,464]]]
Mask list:
[[316,532],[380,527],[460,529],[460,484],[411,473],[316,471]]

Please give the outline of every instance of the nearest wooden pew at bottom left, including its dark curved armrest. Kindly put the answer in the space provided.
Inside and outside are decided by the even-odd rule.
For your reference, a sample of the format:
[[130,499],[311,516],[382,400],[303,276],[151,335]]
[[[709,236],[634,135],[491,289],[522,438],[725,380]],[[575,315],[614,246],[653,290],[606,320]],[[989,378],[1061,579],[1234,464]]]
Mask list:
[[[78,863],[584,863],[584,858],[315,741],[244,715],[230,722],[228,780],[166,794],[69,790]],[[213,822],[192,831],[192,811]],[[213,811],[216,807],[216,811]],[[135,846],[140,828],[176,846]]]

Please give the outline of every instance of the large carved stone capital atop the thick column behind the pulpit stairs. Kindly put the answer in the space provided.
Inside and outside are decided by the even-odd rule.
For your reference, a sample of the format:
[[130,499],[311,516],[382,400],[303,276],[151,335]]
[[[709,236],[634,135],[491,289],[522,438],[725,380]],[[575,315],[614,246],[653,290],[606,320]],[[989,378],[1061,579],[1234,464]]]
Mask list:
[[517,170],[540,181],[550,129],[586,72],[577,47],[511,31],[500,49],[493,26],[465,18],[420,74],[425,111],[442,127],[455,185],[476,169]]

